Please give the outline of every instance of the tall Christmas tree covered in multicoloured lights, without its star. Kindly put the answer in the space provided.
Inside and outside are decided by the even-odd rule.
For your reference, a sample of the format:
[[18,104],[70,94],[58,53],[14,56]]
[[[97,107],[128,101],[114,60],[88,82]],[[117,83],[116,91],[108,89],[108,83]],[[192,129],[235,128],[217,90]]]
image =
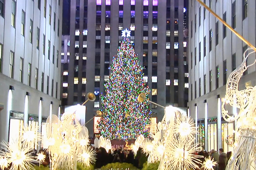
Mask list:
[[151,110],[147,101],[139,103],[140,93],[150,94],[145,86],[138,56],[128,38],[124,38],[113,57],[112,71],[105,83],[105,95],[101,95],[103,112],[98,128],[103,137],[109,139],[137,138],[148,136],[146,125],[150,124]]

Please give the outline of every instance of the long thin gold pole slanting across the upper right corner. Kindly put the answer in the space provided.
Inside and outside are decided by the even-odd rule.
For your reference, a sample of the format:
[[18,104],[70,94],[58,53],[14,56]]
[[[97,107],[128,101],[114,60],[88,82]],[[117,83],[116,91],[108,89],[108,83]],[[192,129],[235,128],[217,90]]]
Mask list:
[[245,40],[243,38],[243,36],[241,36],[240,34],[238,34],[238,32],[236,32],[232,27],[230,27],[230,25],[228,25],[222,18],[220,18],[215,12],[213,12],[211,10],[211,8],[209,8],[205,3],[203,3],[201,0],[196,0],[197,2],[199,2],[203,7],[205,7],[205,9],[207,9],[214,17],[216,17],[218,20],[220,20],[220,22],[222,22],[222,24],[224,24],[229,30],[231,30],[239,39],[241,39],[243,42],[245,42],[248,46],[250,46],[254,51],[256,51],[256,47],[253,46],[250,42],[248,42],[247,40]]

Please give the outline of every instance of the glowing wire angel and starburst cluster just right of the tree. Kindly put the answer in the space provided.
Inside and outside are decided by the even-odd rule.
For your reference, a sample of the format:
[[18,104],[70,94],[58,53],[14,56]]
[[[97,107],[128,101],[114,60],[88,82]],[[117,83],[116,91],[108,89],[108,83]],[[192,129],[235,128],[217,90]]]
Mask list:
[[194,144],[195,133],[190,117],[182,115],[175,107],[166,107],[157,133],[151,134],[153,140],[143,141],[143,151],[149,154],[148,163],[160,161],[158,170],[196,169],[200,164],[198,158],[202,156],[194,154],[200,149]]

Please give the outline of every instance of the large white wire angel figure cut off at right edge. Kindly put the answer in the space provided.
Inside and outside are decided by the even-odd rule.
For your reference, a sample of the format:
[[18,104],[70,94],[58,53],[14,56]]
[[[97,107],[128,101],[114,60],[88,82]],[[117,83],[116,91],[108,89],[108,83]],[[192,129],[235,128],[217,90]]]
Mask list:
[[[227,122],[237,121],[235,129],[238,131],[238,137],[234,146],[234,152],[229,159],[226,169],[250,169],[256,167],[256,86],[246,86],[246,89],[239,90],[238,84],[243,73],[248,67],[255,64],[256,60],[247,65],[247,58],[255,51],[249,52],[252,48],[248,48],[243,53],[242,64],[237,67],[228,77],[226,84],[226,94],[222,103],[222,117]],[[248,54],[247,54],[248,53]],[[254,57],[254,55],[253,55]],[[225,109],[225,105],[238,108],[239,113],[229,115]]]

